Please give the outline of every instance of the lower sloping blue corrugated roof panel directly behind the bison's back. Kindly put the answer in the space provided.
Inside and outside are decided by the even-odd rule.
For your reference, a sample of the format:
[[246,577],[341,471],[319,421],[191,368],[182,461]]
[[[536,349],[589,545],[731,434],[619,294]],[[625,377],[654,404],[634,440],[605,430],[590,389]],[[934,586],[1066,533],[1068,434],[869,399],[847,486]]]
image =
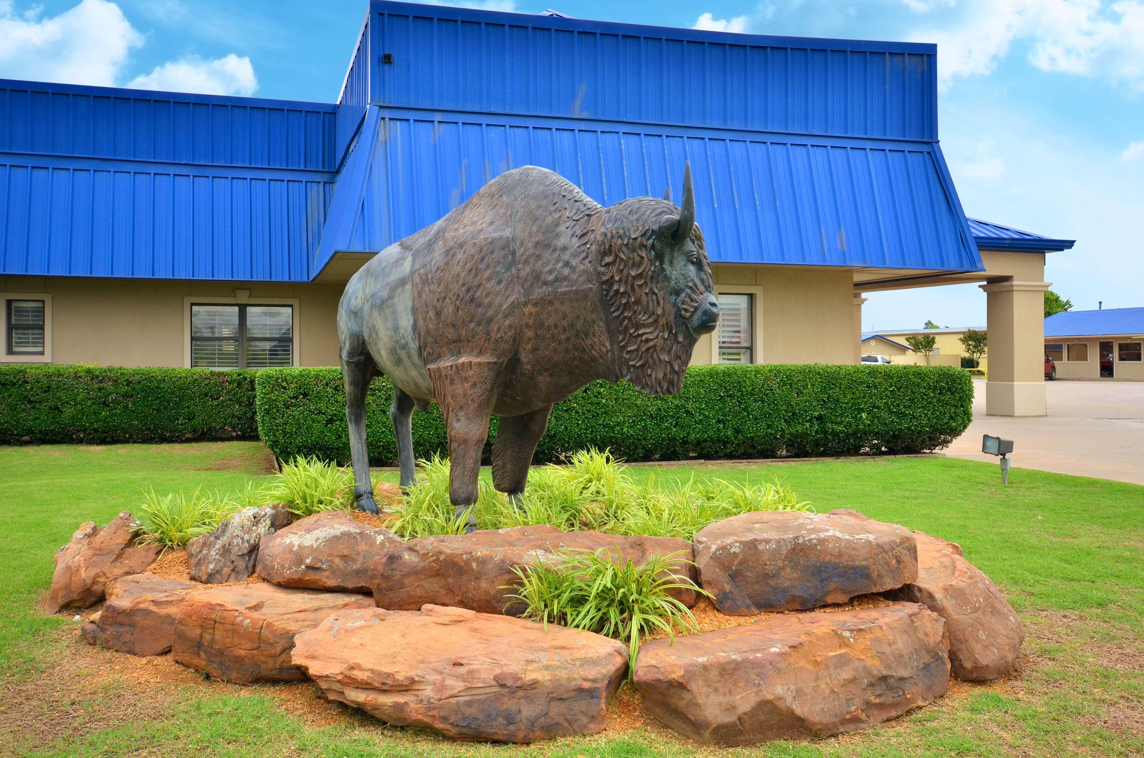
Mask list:
[[612,205],[667,184],[681,197],[686,160],[713,261],[982,268],[929,144],[371,111],[315,271],[335,250],[379,251],[418,231],[510,168],[550,168]]

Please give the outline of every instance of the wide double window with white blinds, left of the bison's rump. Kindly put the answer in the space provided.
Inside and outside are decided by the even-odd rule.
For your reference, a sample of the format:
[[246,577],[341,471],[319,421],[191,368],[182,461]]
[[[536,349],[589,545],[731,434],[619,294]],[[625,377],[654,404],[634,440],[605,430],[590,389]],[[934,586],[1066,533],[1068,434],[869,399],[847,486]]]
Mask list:
[[191,366],[265,369],[293,364],[291,306],[191,306]]

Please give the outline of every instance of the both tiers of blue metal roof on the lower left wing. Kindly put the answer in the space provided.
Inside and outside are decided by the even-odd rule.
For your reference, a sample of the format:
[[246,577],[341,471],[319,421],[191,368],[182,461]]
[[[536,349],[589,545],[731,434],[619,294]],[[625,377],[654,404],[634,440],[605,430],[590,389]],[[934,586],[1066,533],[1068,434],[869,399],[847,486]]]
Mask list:
[[309,282],[335,116],[0,80],[0,273]]

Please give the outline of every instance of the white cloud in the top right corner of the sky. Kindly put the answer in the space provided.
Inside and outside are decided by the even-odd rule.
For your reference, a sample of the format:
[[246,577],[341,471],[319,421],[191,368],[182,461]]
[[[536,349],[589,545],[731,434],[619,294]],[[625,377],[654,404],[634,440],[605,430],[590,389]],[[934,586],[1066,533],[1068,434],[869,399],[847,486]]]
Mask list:
[[[901,0],[915,13],[942,0]],[[937,42],[943,86],[988,74],[1014,42],[1027,42],[1042,71],[1106,77],[1144,90],[1144,0],[969,0],[939,27],[912,34]]]

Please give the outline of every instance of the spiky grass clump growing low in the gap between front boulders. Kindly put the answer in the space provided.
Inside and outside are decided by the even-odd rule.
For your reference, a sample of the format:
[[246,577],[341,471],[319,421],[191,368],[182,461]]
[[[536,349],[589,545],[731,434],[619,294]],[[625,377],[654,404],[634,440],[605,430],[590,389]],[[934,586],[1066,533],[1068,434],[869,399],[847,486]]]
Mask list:
[[669,594],[686,589],[710,597],[672,570],[681,554],[656,553],[636,566],[630,558],[618,562],[606,550],[567,551],[555,561],[513,567],[518,592],[509,597],[525,605],[525,618],[626,642],[630,677],[643,638],[699,631],[691,610]]

